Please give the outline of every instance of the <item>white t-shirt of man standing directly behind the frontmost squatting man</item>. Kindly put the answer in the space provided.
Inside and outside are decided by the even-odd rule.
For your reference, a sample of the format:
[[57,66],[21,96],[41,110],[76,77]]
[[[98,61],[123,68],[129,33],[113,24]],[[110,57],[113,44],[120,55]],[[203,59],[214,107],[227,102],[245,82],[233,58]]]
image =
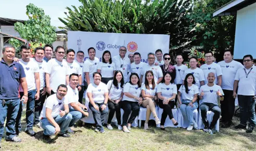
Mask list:
[[50,74],[50,87],[54,92],[57,91],[59,85],[66,84],[67,62],[59,62],[56,58],[53,58],[47,62],[45,73]]

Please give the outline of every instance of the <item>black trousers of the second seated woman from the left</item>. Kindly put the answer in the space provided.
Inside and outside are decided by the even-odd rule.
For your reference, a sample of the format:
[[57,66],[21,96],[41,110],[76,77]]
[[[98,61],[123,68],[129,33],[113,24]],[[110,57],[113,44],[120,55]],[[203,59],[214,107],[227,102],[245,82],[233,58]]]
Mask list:
[[120,111],[120,108],[121,108],[121,101],[118,102],[117,104],[111,102],[111,101],[108,101],[107,102],[108,104],[108,119],[107,119],[107,123],[111,123],[113,117],[114,117],[114,114],[116,112],[116,119],[117,119],[117,124],[118,125],[121,125],[121,111]]

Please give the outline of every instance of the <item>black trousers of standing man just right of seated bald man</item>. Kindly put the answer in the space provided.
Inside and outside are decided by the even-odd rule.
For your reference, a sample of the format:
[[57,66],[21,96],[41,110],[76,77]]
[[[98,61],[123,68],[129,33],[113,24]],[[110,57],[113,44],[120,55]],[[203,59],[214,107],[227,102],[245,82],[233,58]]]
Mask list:
[[231,122],[235,112],[235,99],[233,98],[233,90],[223,90],[225,96],[221,101],[222,120]]

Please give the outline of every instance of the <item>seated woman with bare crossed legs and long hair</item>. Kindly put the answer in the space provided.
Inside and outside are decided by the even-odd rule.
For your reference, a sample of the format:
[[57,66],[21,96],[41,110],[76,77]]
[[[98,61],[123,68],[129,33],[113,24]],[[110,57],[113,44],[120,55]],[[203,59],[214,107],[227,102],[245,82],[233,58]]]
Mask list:
[[147,130],[149,129],[149,117],[151,115],[151,112],[153,113],[153,116],[155,118],[155,123],[156,125],[160,123],[159,118],[157,117],[157,114],[155,112],[155,102],[154,100],[157,100],[156,96],[156,84],[154,80],[154,74],[153,72],[147,71],[145,73],[145,84],[141,86],[141,95],[143,97],[143,101],[141,103],[141,106],[147,108],[147,113],[146,113],[146,120],[144,123],[144,129]]

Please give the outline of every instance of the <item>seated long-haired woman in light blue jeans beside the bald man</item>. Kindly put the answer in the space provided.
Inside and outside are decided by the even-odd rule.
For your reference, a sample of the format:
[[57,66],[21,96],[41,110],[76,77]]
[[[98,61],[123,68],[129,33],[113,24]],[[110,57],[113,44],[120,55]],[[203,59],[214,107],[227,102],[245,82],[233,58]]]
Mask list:
[[187,128],[188,131],[191,131],[193,127],[197,129],[197,123],[193,118],[193,111],[198,107],[197,96],[199,89],[195,84],[196,81],[194,80],[193,74],[189,73],[185,77],[184,85],[179,88],[178,92],[180,111],[183,118],[189,120],[189,127]]

